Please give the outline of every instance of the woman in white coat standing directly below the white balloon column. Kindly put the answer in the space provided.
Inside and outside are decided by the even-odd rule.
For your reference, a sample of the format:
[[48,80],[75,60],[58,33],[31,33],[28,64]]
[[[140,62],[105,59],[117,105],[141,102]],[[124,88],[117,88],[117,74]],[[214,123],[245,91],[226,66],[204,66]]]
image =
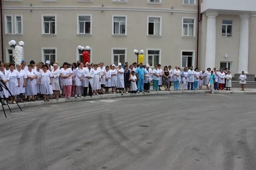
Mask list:
[[23,102],[23,94],[26,92],[27,73],[21,69],[21,64],[18,64],[16,67],[20,75],[20,94],[17,101]]

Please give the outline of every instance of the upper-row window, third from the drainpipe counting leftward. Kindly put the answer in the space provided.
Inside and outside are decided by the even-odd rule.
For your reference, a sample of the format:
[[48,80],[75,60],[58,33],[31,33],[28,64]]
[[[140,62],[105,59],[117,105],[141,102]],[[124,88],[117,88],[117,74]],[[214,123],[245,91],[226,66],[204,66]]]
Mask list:
[[127,34],[127,16],[112,16],[112,34]]

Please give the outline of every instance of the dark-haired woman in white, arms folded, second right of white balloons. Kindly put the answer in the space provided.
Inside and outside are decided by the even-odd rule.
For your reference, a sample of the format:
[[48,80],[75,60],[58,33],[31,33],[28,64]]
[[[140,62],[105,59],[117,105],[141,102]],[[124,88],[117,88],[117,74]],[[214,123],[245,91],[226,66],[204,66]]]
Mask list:
[[35,101],[35,95],[37,95],[37,73],[35,69],[32,69],[32,64],[28,65],[28,70],[26,71],[27,81],[25,96],[28,96],[28,101],[30,101],[30,96],[32,96],[32,101]]

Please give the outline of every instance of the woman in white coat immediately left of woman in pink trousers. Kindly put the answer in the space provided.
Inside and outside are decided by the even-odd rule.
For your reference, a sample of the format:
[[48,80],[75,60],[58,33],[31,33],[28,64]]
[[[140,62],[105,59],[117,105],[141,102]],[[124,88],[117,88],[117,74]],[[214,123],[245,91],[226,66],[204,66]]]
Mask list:
[[52,69],[52,90],[53,90],[53,99],[59,99],[59,67],[58,64],[53,64]]

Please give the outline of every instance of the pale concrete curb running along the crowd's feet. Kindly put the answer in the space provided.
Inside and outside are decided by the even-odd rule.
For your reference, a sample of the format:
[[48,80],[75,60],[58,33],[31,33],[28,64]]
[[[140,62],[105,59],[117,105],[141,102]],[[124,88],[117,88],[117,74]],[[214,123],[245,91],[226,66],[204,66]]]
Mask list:
[[[104,94],[104,95],[98,95],[98,96],[86,96],[86,97],[78,97],[78,98],[59,98],[58,100],[56,99],[51,99],[50,101],[43,101],[43,100],[38,100],[38,101],[30,101],[30,102],[24,102],[24,103],[18,103],[19,106],[22,107],[30,107],[30,106],[38,106],[38,105],[48,105],[48,104],[54,104],[54,103],[63,103],[63,102],[70,102],[70,101],[82,101],[82,100],[93,100],[93,99],[106,99],[106,98],[117,98],[117,97],[128,97],[128,96],[148,96],[148,95],[157,95],[157,94],[204,94],[204,93],[210,93],[209,90],[180,90],[180,91],[150,91],[149,93],[128,93],[128,94]],[[214,94],[256,94],[256,92],[253,91],[220,91],[216,90],[214,91]],[[11,109],[18,108],[18,105],[9,105]],[[8,112],[8,107],[5,105],[4,109]],[[2,107],[0,107],[0,110],[2,110]]]

